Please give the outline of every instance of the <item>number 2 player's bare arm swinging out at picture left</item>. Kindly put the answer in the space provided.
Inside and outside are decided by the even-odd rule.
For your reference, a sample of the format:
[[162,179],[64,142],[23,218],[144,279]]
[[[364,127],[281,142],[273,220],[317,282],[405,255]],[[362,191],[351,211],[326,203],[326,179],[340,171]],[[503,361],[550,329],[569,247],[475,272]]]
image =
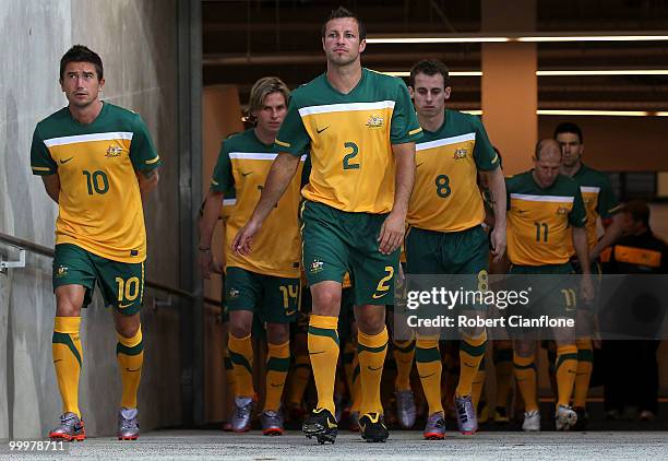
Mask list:
[[251,218],[235,236],[231,250],[237,252],[237,255],[246,256],[251,252],[253,236],[258,234],[266,216],[269,216],[281,197],[285,193],[295,173],[297,173],[299,162],[300,159],[297,155],[279,154],[276,156]]

